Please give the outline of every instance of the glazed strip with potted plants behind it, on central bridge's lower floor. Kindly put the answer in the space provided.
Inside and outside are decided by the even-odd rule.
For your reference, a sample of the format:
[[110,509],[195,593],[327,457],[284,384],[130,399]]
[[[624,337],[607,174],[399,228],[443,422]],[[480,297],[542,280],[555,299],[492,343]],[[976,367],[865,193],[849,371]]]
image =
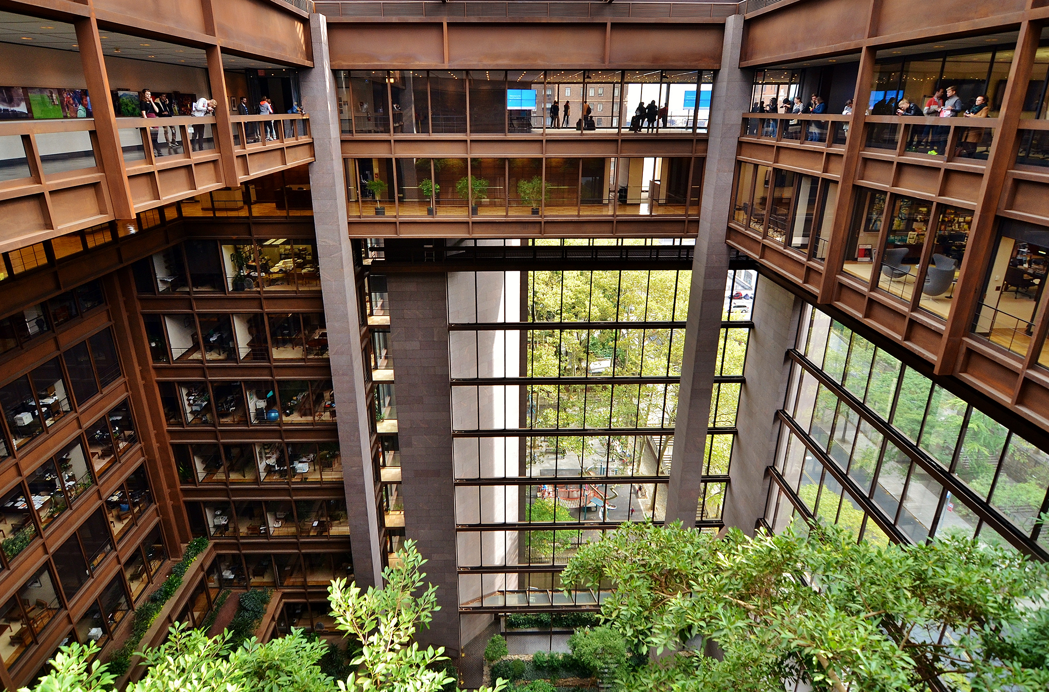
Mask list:
[[[689,156],[346,158],[346,212],[354,218],[539,215],[694,218],[700,213],[703,161],[702,157]],[[793,174],[790,175],[794,180]],[[796,177],[801,186],[798,194],[806,195],[806,204],[811,207],[817,200],[815,178]],[[788,199],[793,194],[792,190]],[[813,211],[802,210],[802,216],[806,217],[795,223],[797,239],[792,240],[792,246],[807,246]],[[830,228],[830,220],[826,225]],[[820,229],[817,232],[822,233]],[[241,261],[234,246],[222,247],[223,252],[230,250],[227,254],[234,258],[235,264]],[[250,250],[249,246],[242,252]],[[296,252],[300,250],[297,244]],[[303,262],[305,269],[301,273],[288,267],[286,273],[274,276],[266,267],[275,263],[276,258],[262,267],[270,277],[264,282],[266,289],[294,290],[298,285],[302,290],[319,285],[315,264]],[[234,266],[228,267],[231,290],[257,289],[256,282],[260,279],[254,274],[254,264],[250,267],[247,275]]]

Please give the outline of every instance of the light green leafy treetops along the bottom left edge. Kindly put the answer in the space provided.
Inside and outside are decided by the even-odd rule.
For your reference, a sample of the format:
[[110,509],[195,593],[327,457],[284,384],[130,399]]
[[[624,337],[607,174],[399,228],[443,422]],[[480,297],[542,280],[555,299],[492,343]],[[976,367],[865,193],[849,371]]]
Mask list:
[[[383,571],[383,588],[362,591],[354,583],[347,586],[344,579],[328,588],[339,629],[363,643],[346,680],[335,680],[321,670],[318,662],[328,645],[299,629],[266,644],[252,637],[234,647],[229,632],[209,637],[201,630],[176,625],[166,644],[142,652],[148,672],[128,692],[437,692],[453,685],[455,678],[440,666],[448,661],[443,647],[422,650],[419,644],[409,644],[416,625],[428,624],[438,608],[437,587],[423,587],[426,575],[420,567],[426,560],[414,541],[405,541],[399,555],[400,564]],[[420,596],[413,596],[416,592]],[[51,662],[53,670],[33,690],[20,692],[112,690],[116,676],[98,661],[88,663],[98,651],[93,642],[62,647]],[[500,679],[493,689],[479,692],[505,687]]]

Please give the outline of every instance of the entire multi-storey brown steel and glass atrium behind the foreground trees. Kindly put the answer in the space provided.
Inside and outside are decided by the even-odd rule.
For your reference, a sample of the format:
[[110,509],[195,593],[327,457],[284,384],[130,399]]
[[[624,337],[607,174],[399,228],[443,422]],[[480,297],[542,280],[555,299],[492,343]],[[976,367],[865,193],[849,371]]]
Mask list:
[[0,64],[0,689],[201,537],[142,646],[338,642],[410,539],[465,689],[627,522],[1049,558],[1043,0],[4,0]]

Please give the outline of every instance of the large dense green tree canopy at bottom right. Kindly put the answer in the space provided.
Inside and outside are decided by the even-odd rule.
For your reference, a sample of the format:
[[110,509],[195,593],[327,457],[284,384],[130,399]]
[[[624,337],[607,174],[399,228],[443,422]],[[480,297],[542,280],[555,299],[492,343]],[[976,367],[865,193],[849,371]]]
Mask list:
[[[751,539],[628,523],[582,546],[561,582],[616,590],[601,609],[638,653],[626,692],[1049,689],[1049,572],[962,539],[856,543],[837,526]],[[702,652],[713,645],[719,659]]]

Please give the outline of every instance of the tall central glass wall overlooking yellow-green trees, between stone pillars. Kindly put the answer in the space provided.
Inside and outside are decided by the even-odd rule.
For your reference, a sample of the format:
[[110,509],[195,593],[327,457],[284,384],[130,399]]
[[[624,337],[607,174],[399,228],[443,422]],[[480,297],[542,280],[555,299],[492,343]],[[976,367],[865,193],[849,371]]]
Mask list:
[[595,605],[559,568],[623,521],[663,521],[689,278],[449,274],[462,606]]

